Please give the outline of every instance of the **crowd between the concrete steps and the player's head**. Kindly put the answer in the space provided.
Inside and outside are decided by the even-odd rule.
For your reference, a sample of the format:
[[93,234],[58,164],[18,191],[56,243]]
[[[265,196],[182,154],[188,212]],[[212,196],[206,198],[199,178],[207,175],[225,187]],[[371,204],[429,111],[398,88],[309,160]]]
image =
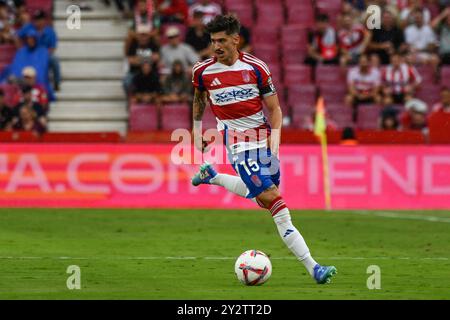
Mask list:
[[[131,103],[191,104],[191,69],[212,55],[205,25],[223,8],[214,1],[137,0],[125,42],[124,89]],[[240,49],[250,51],[250,31]]]

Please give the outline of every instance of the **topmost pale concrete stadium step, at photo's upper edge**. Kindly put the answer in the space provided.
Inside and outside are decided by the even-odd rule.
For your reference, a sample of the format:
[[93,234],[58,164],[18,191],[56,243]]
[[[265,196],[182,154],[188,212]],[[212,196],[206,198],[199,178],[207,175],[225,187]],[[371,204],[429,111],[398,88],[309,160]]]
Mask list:
[[114,19],[119,17],[119,12],[114,4],[114,1],[111,1],[111,5],[108,7],[103,4],[99,0],[88,0],[88,1],[70,1],[70,0],[56,0],[53,1],[55,13],[54,17],[57,20],[66,20],[68,14],[66,10],[71,5],[80,6],[81,4],[89,5],[93,10],[92,11],[81,11],[81,19],[82,20],[92,20],[92,19]]

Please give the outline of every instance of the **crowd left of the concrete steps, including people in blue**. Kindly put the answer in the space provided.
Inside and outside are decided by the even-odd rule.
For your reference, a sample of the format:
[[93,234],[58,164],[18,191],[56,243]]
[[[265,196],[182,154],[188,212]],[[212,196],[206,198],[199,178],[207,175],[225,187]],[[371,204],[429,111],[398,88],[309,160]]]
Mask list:
[[23,0],[0,0],[0,55],[12,54],[0,68],[1,130],[46,131],[61,77],[57,41],[49,12],[30,12]]

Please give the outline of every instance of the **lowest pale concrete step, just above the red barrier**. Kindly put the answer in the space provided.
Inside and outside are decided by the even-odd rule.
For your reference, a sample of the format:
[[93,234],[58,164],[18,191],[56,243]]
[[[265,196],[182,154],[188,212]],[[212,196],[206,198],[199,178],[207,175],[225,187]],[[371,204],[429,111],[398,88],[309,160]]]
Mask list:
[[127,132],[126,121],[50,121],[50,132]]

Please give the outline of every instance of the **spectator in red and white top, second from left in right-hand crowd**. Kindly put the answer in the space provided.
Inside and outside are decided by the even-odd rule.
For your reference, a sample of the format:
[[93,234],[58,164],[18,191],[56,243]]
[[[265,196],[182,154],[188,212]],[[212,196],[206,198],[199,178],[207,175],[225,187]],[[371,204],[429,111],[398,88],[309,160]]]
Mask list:
[[366,51],[371,33],[360,23],[355,23],[350,14],[342,15],[341,28],[338,31],[341,66],[354,65],[359,56]]

